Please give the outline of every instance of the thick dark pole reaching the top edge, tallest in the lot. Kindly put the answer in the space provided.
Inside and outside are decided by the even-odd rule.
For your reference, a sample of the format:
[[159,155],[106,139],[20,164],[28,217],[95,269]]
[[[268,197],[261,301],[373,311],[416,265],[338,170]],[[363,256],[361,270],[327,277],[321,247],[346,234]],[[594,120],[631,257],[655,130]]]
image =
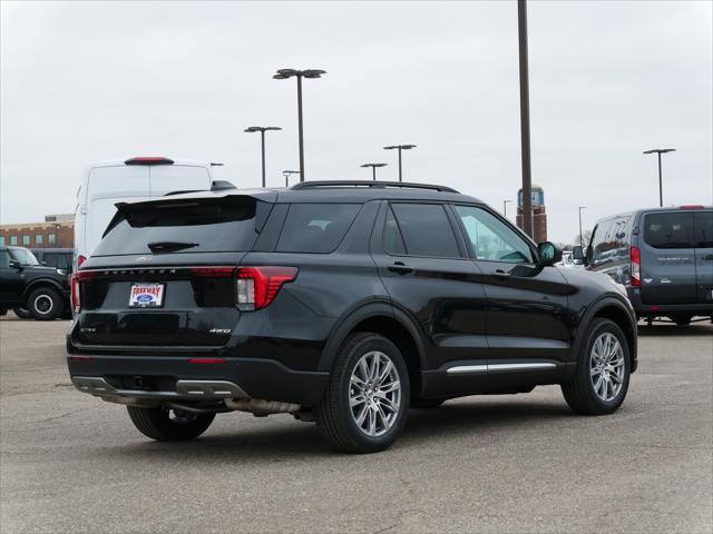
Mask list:
[[530,169],[530,90],[527,66],[527,0],[517,0],[520,57],[520,146],[522,159],[522,229],[533,237],[533,174]]

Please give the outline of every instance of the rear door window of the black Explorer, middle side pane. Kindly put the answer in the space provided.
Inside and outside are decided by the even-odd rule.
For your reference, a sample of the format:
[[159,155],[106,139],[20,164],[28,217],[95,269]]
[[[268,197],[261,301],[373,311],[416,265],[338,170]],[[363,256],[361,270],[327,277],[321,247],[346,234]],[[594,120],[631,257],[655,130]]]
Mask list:
[[459,258],[458,243],[440,204],[392,204],[409,256]]

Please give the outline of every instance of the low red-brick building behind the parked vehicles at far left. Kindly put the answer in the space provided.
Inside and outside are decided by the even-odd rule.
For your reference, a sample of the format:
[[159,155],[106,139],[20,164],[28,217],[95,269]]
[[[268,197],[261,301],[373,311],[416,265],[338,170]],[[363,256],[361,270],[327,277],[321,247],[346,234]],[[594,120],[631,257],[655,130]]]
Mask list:
[[0,225],[0,245],[26,248],[72,248],[75,214],[48,215],[45,222]]

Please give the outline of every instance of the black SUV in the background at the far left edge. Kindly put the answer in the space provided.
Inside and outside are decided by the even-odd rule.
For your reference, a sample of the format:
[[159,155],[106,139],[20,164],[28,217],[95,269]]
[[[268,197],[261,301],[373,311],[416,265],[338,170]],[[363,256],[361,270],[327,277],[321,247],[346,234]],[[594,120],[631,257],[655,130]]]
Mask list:
[[0,246],[0,315],[51,320],[69,313],[66,271],[40,265],[31,250]]

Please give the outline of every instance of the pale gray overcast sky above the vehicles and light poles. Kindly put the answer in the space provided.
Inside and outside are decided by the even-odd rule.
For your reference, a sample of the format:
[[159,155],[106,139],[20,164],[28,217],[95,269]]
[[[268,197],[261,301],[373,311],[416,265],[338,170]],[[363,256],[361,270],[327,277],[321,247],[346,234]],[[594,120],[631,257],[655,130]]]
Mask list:
[[[612,212],[712,204],[712,3],[530,1],[533,180],[549,238]],[[520,186],[517,6],[498,2],[2,2],[0,221],[75,210],[94,161],[162,155],[225,164],[260,185],[297,168],[294,80],[305,80],[307,179],[367,179],[359,166],[414,144],[404,178],[498,209]],[[514,214],[514,204],[509,214]]]

